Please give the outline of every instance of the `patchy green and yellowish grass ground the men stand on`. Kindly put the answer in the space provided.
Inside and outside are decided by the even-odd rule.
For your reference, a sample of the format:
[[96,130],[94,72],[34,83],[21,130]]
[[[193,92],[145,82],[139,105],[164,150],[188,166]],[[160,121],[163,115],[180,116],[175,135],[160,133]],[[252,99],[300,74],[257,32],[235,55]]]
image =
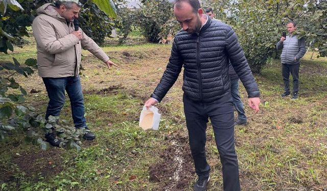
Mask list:
[[[0,54],[24,63],[36,58],[35,42]],[[119,65],[110,70],[83,51],[85,116],[97,135],[81,152],[51,147],[42,151],[24,142],[24,132],[11,132],[0,143],[2,190],[192,190],[196,181],[182,106],[182,76],[157,106],[158,131],[143,131],[138,117],[156,87],[171,45],[103,47]],[[281,98],[283,80],[278,60],[255,75],[261,111],[253,115],[240,86],[249,120],[235,127],[242,190],[327,190],[327,59],[308,52],[300,66],[297,100]],[[2,71],[1,75],[10,73]],[[30,92],[27,104],[45,113],[48,97],[37,73],[17,77]],[[68,98],[67,98],[68,99]],[[61,119],[72,122],[69,101]],[[221,164],[211,126],[207,159],[212,167],[208,190],[222,190]]]

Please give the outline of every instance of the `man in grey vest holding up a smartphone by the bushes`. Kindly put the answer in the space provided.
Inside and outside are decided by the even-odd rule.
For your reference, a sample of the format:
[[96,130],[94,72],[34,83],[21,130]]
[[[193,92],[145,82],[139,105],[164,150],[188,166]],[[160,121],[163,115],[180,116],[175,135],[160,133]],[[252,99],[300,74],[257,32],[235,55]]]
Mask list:
[[[283,49],[281,54],[282,74],[284,81],[284,93],[282,97],[290,95],[290,73],[293,77],[293,96],[292,99],[298,98],[298,84],[299,84],[299,59],[306,53],[306,41],[304,38],[298,39],[297,35],[293,35],[296,31],[296,24],[293,21],[287,23],[287,31],[282,34],[281,40],[277,43],[277,49]],[[284,36],[285,35],[285,36]]]

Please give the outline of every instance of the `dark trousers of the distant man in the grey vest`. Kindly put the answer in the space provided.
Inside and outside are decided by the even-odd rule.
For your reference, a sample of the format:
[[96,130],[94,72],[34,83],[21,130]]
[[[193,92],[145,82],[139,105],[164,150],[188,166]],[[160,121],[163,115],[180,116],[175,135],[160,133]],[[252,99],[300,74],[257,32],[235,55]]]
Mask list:
[[293,77],[293,93],[298,92],[298,71],[300,64],[282,64],[284,91],[290,92],[290,73]]

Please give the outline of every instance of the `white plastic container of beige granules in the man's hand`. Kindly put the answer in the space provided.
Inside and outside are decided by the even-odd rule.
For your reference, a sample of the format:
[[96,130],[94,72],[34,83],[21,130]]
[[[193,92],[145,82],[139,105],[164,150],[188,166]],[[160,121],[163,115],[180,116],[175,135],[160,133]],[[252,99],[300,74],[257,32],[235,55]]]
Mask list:
[[160,116],[157,107],[150,106],[149,110],[147,110],[146,106],[143,106],[141,116],[139,116],[138,126],[142,127],[144,130],[158,130]]

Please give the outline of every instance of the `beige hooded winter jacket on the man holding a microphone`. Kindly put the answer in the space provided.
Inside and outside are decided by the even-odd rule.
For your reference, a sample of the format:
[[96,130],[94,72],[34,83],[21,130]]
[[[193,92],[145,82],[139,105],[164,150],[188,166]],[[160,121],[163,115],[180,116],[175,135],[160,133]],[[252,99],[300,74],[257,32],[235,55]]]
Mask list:
[[[53,4],[37,9],[38,16],[32,24],[37,44],[37,65],[41,77],[77,76],[81,64],[82,47],[103,62],[107,54],[82,31],[79,40],[72,33],[74,24],[59,15]],[[77,63],[76,63],[77,61]]]

